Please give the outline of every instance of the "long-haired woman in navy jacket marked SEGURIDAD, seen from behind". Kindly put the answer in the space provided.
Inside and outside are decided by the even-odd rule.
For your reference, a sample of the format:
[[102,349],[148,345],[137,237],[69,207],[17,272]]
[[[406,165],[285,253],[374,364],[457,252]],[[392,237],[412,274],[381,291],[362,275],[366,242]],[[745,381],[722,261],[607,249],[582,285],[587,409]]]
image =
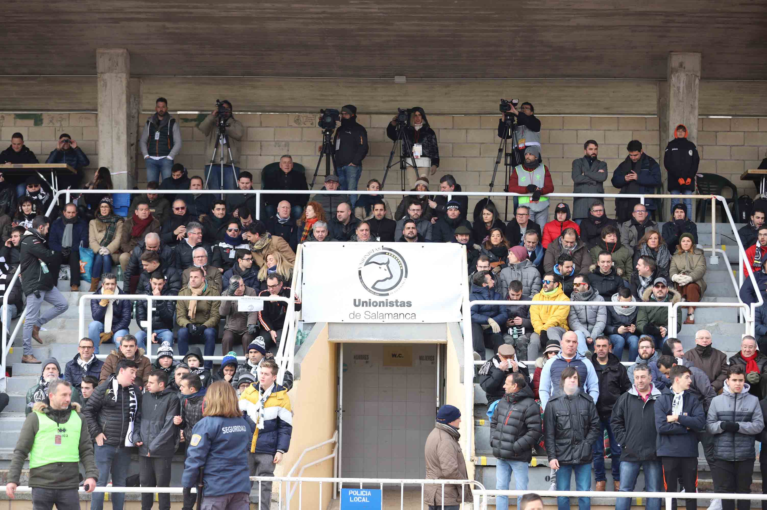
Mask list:
[[249,510],[250,478],[248,453],[255,424],[242,417],[232,385],[212,383],[205,397],[202,420],[192,429],[186,464],[181,478],[184,487],[197,486],[202,469],[203,498],[208,510]]

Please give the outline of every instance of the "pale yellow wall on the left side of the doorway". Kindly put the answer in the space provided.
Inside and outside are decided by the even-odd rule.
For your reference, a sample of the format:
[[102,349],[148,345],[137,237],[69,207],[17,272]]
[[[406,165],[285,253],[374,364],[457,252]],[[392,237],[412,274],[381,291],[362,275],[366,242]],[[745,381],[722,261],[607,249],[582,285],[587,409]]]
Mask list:
[[[336,429],[337,383],[338,373],[336,344],[328,342],[328,325],[319,332],[308,353],[301,360],[301,378],[295,380],[289,395],[293,406],[293,435],[290,450],[275,469],[275,476],[285,476],[309,446],[322,443],[333,436]],[[301,460],[301,466],[328,456],[333,452],[332,445],[308,452]],[[298,476],[298,469],[293,474]],[[333,461],[328,460],[304,471],[305,477],[329,478],[333,476]],[[272,491],[276,498],[278,484]],[[285,487],[283,487],[283,505],[285,505]],[[319,484],[302,484],[301,506],[318,508]],[[326,508],[331,500],[333,485],[322,484],[322,505]],[[298,489],[291,499],[291,510],[298,508]]]

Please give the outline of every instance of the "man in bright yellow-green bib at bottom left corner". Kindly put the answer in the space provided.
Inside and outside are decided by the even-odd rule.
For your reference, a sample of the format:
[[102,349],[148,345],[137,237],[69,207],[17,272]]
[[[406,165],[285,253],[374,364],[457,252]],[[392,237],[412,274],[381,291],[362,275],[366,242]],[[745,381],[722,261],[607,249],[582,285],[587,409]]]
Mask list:
[[50,510],[56,505],[58,510],[79,510],[79,462],[85,467],[86,491],[93,492],[98,479],[94,446],[80,404],[71,403],[71,399],[71,384],[57,379],[48,387],[48,397],[32,407],[13,452],[5,485],[8,498],[15,498],[27,456],[33,508]]

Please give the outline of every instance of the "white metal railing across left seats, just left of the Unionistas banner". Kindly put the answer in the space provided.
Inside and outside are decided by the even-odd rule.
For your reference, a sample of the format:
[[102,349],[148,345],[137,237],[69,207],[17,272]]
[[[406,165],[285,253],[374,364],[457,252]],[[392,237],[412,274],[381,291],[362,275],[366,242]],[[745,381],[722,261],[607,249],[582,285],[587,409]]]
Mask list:
[[[80,301],[78,301],[78,317],[77,317],[77,327],[79,329],[79,338],[87,337],[85,334],[85,302],[86,301],[92,301],[92,300],[102,300],[102,299],[127,299],[131,301],[146,301],[146,355],[147,357],[150,357],[150,359],[154,359],[156,356],[154,356],[151,352],[151,345],[152,345],[152,304],[153,301],[239,301],[239,298],[242,298],[242,296],[153,296],[153,295],[147,295],[147,294],[83,294],[80,296]],[[292,308],[295,308],[294,301],[292,301],[290,298],[283,298],[282,296],[265,296],[265,297],[258,297],[253,298],[260,301],[281,301],[286,304],[288,308],[288,312],[286,314],[286,321],[288,314],[290,313]],[[216,326],[216,330],[218,330],[218,326]],[[286,337],[288,335],[288,327],[282,328],[282,335],[280,337],[280,346],[283,344],[286,344]],[[247,353],[244,353],[247,354]],[[281,356],[280,352],[278,351],[278,355],[275,356],[275,360],[277,360],[278,364],[281,364],[281,366],[285,366],[284,362],[281,362]],[[107,357],[107,355],[101,355],[97,354],[97,357],[100,357],[101,359],[104,359]],[[178,357],[174,356],[174,359],[177,359]],[[223,360],[223,356],[207,356],[205,357],[206,361],[221,361]],[[244,361],[246,359],[246,356],[237,357],[239,361]],[[285,377],[285,370],[280,370],[278,372],[277,376],[277,382],[282,383],[283,377]]]

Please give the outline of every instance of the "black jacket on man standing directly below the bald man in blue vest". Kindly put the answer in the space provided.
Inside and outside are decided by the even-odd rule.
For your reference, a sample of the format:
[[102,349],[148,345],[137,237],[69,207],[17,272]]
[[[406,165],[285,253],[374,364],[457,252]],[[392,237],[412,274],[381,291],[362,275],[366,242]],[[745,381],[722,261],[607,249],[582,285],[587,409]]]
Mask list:
[[591,447],[602,440],[594,399],[578,391],[560,393],[546,404],[543,413],[546,454],[560,464],[591,463]]

